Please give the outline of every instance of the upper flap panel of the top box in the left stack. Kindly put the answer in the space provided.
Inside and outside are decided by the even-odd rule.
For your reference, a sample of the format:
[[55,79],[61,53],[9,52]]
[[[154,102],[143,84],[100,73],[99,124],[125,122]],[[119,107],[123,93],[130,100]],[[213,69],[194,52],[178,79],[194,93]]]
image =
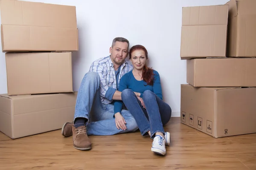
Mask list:
[[76,7],[20,0],[1,0],[5,25],[77,28]]

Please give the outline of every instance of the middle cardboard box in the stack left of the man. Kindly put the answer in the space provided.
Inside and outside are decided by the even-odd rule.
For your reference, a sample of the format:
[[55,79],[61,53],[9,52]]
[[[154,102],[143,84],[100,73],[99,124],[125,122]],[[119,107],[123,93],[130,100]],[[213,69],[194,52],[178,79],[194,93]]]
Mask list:
[[72,54],[6,53],[8,95],[73,92]]

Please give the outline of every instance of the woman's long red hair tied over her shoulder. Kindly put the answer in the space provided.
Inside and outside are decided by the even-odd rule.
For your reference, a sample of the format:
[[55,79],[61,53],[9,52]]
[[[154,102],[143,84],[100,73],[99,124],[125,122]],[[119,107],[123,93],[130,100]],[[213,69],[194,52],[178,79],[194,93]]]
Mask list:
[[[148,51],[143,45],[134,45],[131,47],[129,52],[129,59],[131,59],[131,53],[136,50],[143,50],[145,52],[145,57],[148,59]],[[154,84],[154,73],[152,68],[148,68],[148,66],[145,64],[142,71],[142,79],[148,84],[153,85]]]

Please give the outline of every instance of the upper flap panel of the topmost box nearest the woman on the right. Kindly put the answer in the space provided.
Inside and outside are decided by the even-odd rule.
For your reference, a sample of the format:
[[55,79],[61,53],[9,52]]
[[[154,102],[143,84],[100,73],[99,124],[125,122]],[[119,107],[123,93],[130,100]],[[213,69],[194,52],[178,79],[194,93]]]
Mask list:
[[182,26],[227,25],[228,6],[182,8]]

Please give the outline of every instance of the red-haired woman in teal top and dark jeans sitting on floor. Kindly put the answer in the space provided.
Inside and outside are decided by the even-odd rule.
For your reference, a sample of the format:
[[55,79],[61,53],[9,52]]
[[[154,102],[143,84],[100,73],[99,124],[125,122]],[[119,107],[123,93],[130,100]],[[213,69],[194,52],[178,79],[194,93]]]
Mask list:
[[[149,134],[153,139],[151,151],[165,155],[165,145],[170,144],[170,133],[164,131],[163,125],[169,122],[172,109],[163,102],[160,76],[157,71],[147,67],[148,51],[144,46],[134,45],[129,59],[133,70],[119,82],[122,102],[134,116],[141,134]],[[114,103],[115,113],[121,112],[122,102]]]

